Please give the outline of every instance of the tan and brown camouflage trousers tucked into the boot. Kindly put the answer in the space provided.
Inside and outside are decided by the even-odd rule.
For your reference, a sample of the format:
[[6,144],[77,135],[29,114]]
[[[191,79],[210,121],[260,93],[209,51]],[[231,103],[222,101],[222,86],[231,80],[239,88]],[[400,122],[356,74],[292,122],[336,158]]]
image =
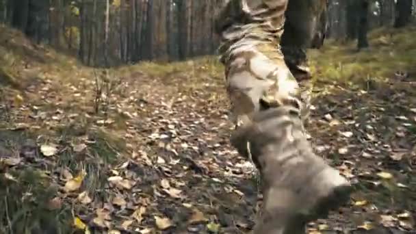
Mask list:
[[311,76],[305,51],[323,40],[325,3],[325,0],[226,1],[217,16],[216,27],[236,127],[248,124],[255,112],[282,105],[298,108],[300,118],[307,120]]

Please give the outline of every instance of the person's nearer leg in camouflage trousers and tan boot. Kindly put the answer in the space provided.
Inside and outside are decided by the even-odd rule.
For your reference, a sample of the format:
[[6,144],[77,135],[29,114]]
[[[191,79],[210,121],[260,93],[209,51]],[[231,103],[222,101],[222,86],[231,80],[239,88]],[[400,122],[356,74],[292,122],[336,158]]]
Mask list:
[[231,143],[261,174],[262,216],[255,234],[304,233],[346,203],[350,184],[317,157],[302,124],[305,104],[280,40],[288,0],[230,0],[216,21],[220,60],[237,129]]

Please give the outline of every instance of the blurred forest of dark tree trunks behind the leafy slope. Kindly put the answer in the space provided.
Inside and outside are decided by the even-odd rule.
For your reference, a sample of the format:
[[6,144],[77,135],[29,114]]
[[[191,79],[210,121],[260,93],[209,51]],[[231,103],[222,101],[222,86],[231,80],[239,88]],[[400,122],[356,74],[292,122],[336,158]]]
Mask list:
[[[367,29],[402,27],[414,0],[328,0],[326,38],[367,47]],[[0,21],[90,66],[176,61],[216,53],[222,0],[0,0]]]

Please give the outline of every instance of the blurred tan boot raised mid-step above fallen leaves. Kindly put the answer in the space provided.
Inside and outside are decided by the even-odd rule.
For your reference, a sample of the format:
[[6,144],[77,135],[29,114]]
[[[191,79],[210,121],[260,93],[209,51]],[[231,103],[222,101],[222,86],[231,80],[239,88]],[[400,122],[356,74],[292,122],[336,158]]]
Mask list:
[[257,112],[231,143],[261,174],[263,207],[255,234],[303,234],[305,225],[348,202],[352,187],[313,153],[295,107]]

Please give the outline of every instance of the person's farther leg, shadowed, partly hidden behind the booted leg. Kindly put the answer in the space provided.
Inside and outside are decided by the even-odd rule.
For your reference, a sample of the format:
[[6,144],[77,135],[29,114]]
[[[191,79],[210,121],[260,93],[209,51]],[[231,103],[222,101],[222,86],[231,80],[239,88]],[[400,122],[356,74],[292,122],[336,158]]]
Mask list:
[[302,89],[302,101],[307,105],[304,120],[309,116],[312,91],[307,49],[319,49],[324,44],[328,24],[326,2],[327,0],[290,0],[285,12],[281,49],[285,63]]

